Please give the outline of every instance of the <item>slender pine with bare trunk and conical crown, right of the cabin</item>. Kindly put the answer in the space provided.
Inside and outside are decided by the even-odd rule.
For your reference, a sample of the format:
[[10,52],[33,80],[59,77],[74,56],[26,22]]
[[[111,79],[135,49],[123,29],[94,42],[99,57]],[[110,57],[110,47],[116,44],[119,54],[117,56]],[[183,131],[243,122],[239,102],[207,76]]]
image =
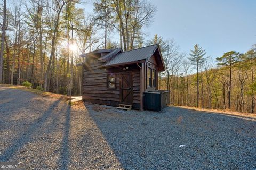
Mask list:
[[198,70],[199,67],[204,63],[204,55],[206,54],[205,49],[202,47],[199,47],[198,44],[195,44],[194,50],[190,50],[191,53],[189,54],[191,57],[188,57],[188,59],[191,61],[192,65],[196,66],[196,73],[197,73],[197,103],[196,106],[198,107],[198,101],[199,101],[199,76],[198,76]]

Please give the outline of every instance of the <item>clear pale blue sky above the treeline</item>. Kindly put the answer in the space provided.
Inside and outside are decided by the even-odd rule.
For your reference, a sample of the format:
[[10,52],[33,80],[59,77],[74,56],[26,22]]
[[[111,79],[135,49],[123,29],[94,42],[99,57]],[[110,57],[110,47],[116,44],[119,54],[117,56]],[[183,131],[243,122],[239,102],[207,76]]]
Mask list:
[[[245,53],[256,44],[255,0],[148,1],[157,12],[150,26],[143,29],[146,39],[155,34],[174,39],[187,54],[199,44],[207,56],[214,58],[230,50]],[[93,12],[92,0],[82,6],[86,12]]]

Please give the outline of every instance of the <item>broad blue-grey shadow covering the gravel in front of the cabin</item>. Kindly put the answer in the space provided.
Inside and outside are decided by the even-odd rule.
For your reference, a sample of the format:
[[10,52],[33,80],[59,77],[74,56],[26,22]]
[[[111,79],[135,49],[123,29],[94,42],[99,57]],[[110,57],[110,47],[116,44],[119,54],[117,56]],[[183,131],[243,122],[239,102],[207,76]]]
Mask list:
[[173,107],[158,113],[84,105],[125,169],[255,167],[255,121]]

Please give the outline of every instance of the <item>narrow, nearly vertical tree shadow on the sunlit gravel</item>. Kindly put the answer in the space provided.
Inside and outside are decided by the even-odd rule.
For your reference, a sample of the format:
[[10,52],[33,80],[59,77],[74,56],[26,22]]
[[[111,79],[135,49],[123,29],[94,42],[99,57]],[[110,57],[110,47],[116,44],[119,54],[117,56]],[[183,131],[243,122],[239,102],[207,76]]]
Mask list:
[[68,145],[68,136],[70,131],[70,106],[68,106],[66,111],[65,125],[64,125],[64,134],[62,139],[61,146],[61,159],[59,159],[58,165],[61,169],[68,169],[68,164],[70,162],[70,148]]

